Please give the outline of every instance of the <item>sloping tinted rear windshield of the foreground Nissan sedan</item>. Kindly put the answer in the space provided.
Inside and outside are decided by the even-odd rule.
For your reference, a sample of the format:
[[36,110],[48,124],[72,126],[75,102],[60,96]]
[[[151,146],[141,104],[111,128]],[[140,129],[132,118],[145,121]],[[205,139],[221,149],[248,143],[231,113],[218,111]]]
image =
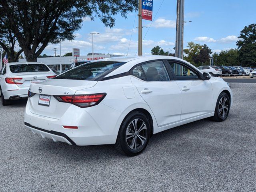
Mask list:
[[75,79],[94,81],[100,77],[106,76],[107,74],[114,71],[123,64],[125,64],[125,62],[90,62],[80,65],[63,74],[60,74],[55,79]]

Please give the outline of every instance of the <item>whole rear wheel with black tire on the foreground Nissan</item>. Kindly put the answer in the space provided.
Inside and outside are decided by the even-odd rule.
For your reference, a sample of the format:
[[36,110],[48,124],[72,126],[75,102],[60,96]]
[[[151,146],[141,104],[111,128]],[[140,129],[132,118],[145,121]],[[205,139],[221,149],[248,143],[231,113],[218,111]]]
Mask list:
[[[136,132],[133,126],[135,121],[135,127],[137,127],[135,128]],[[139,130],[140,128],[142,128],[142,130]],[[116,139],[116,148],[120,153],[126,156],[136,156],[146,148],[149,140],[150,123],[148,118],[142,112],[134,111],[124,118],[120,126]]]

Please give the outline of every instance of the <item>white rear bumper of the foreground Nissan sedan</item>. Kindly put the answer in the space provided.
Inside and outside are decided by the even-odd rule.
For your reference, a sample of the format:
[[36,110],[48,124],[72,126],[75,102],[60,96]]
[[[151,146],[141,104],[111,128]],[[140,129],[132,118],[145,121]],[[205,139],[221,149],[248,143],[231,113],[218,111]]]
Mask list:
[[[118,119],[124,118],[122,113],[102,104],[91,109],[71,105],[60,119],[33,114],[29,105],[30,102],[24,113],[26,128],[43,138],[71,145],[114,144],[121,124]],[[106,114],[111,114],[111,121],[104,117]],[[77,126],[78,129],[63,126]]]

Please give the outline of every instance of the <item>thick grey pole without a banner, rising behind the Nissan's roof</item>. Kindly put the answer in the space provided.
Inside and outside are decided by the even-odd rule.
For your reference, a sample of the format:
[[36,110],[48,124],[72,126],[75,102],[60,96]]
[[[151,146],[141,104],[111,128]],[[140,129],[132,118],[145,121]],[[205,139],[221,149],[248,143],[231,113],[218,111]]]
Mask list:
[[184,0],[177,0],[175,57],[183,59]]

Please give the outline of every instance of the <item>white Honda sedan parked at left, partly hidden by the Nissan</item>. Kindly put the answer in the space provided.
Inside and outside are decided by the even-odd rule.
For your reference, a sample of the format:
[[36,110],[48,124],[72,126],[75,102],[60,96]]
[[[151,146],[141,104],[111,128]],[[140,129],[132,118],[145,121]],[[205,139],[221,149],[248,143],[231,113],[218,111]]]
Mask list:
[[56,74],[40,62],[8,63],[0,72],[0,92],[3,105],[11,100],[28,98],[30,84],[56,77]]

